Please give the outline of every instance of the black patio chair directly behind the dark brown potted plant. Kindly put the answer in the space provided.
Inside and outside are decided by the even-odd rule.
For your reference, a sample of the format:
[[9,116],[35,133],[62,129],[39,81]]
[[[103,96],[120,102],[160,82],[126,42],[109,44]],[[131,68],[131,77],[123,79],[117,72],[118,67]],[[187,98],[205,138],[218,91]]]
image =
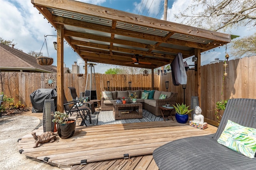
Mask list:
[[82,123],[80,124],[80,126],[83,126],[83,125],[86,125],[85,120],[87,120],[86,119],[87,115],[89,116],[90,123],[92,123],[92,119],[90,114],[90,108],[87,107],[86,105],[79,106],[80,102],[81,100],[73,100],[68,102],[68,100],[66,99],[66,96],[64,95],[63,103],[64,103],[65,112],[70,114],[70,116],[76,112],[78,116],[82,119]]

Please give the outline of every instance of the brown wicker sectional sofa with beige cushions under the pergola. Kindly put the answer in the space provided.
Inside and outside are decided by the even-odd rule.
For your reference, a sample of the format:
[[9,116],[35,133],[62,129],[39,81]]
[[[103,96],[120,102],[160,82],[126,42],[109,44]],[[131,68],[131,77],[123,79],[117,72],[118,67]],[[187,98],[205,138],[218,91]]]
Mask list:
[[[172,104],[175,104],[176,98],[178,95],[178,93],[175,93],[175,92],[164,92],[164,91],[158,91],[158,90],[150,90],[150,91],[151,91],[150,93],[153,93],[153,99],[141,99],[142,92],[144,92],[144,90],[113,91],[111,92],[112,98],[111,98],[111,95],[109,96],[110,98],[104,98],[104,92],[107,92],[107,91],[102,91],[101,110],[102,111],[113,110],[113,104],[116,102],[116,99],[118,97],[120,97],[121,99],[123,99],[124,97],[126,100],[128,98],[128,95],[134,94],[134,92],[136,92],[136,94],[138,95],[137,102],[142,103],[143,109],[150,111],[156,116],[161,116],[162,114],[159,109],[159,106],[165,105],[167,102],[172,106]],[[110,94],[110,92],[107,92],[107,93]],[[166,94],[166,99],[159,99],[161,94]]]

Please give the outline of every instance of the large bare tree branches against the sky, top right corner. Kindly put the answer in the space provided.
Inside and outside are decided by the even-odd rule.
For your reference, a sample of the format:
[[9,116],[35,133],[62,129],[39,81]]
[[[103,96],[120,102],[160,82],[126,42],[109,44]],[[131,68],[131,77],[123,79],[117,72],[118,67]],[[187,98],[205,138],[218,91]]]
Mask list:
[[[191,12],[189,14],[188,12]],[[255,0],[193,0],[183,12],[174,16],[182,23],[212,29],[256,26]]]

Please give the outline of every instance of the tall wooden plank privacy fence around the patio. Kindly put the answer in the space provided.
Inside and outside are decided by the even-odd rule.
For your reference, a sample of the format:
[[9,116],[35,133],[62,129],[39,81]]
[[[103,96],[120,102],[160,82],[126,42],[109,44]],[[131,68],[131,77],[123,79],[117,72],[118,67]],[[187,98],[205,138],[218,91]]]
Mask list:
[[[228,61],[227,73],[224,74],[224,63],[208,64],[201,67],[201,105],[202,114],[207,121],[216,124],[214,108],[216,102],[230,98],[256,98],[256,56]],[[194,96],[194,70],[188,70],[188,82],[185,89],[185,103],[190,105],[191,96]],[[101,91],[108,90],[107,81],[110,81],[110,91],[151,89],[151,74],[95,74],[97,84],[97,96],[100,99]],[[31,72],[1,72],[0,92],[14,98],[14,103],[20,101],[28,107],[32,107],[30,94],[39,88],[55,88],[48,86],[46,79],[55,78],[54,73],[31,73]],[[171,73],[154,74],[154,90],[166,91],[165,81],[169,81],[168,92],[178,92],[177,103],[184,102],[184,89],[182,86],[172,84]],[[222,86],[222,84],[224,86]],[[86,76],[76,74],[64,74],[64,92],[68,100],[71,95],[68,87],[76,88],[79,96],[85,91]],[[223,90],[222,90],[223,89]],[[223,92],[223,96],[221,95]]]

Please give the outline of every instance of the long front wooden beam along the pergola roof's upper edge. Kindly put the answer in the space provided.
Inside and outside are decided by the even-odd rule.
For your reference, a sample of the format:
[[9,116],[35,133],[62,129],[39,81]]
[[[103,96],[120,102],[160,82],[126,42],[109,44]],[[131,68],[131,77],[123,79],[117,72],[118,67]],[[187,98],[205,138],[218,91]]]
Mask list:
[[116,20],[124,23],[141,25],[144,27],[161,29],[164,31],[171,31],[171,32],[185,34],[185,35],[196,36],[196,37],[202,37],[202,38],[207,37],[208,39],[212,39],[216,41],[224,41],[227,43],[231,41],[229,34],[218,33],[216,31],[200,29],[197,27],[191,27],[188,25],[182,25],[179,23],[159,20],[155,18],[150,18],[146,16],[123,12],[120,10],[115,10],[112,8],[96,6],[96,5],[73,1],[73,0],[61,0],[58,2],[49,1],[49,0],[47,1],[32,0],[31,2],[34,5],[41,5],[41,6],[47,6],[50,8],[61,9],[68,12],[74,12],[75,14],[76,13],[86,14],[89,16],[105,18],[107,20]]

